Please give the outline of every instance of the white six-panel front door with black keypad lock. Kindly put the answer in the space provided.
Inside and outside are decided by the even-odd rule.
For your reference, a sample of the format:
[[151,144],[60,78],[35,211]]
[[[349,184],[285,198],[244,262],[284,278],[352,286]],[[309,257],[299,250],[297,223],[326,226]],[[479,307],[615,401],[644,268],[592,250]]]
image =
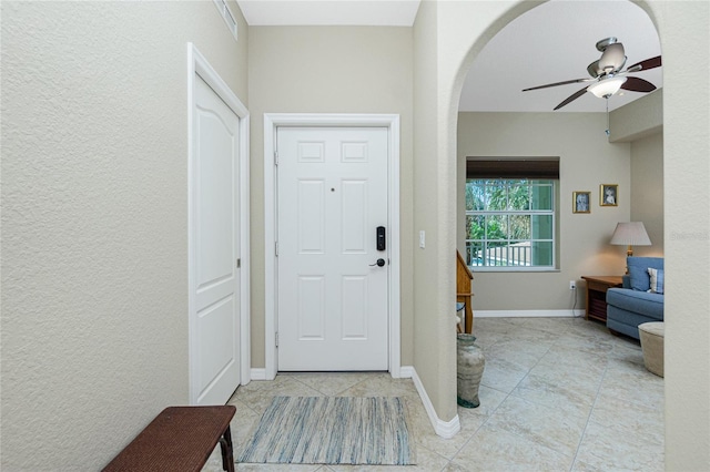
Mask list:
[[388,130],[278,127],[276,147],[278,370],[387,370]]

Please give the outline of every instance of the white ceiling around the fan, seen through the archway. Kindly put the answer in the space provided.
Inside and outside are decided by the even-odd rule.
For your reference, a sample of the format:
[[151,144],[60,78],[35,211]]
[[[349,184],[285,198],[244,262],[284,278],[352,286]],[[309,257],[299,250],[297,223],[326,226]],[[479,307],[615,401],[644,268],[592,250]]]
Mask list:
[[[585,84],[521,90],[589,78],[587,65],[601,55],[595,44],[609,37],[623,43],[627,66],[661,53],[650,18],[630,1],[551,0],[544,3],[511,21],[478,54],[464,85],[459,109],[552,111]],[[657,88],[662,83],[662,68],[632,75]],[[628,91],[621,96],[613,95],[609,99],[609,109],[643,95]],[[556,113],[605,111],[604,99],[586,93]]]

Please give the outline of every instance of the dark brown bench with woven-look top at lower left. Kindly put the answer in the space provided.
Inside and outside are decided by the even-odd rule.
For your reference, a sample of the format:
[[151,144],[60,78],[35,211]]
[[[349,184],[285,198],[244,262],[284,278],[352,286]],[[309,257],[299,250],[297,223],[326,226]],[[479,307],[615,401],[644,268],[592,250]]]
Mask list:
[[230,421],[235,411],[231,404],[169,407],[103,470],[199,472],[219,442],[222,469],[234,472]]

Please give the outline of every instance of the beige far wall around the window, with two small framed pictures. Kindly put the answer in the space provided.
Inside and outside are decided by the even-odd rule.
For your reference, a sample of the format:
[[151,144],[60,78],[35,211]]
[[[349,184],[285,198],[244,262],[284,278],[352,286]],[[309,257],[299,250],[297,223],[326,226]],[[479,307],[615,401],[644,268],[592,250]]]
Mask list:
[[[465,249],[466,157],[559,157],[559,260],[557,271],[476,270],[475,310],[570,310],[569,280],[582,275],[622,274],[626,248],[610,246],[618,222],[631,208],[630,145],[607,140],[604,113],[459,113],[458,233]],[[599,205],[600,184],[619,185],[619,205]],[[572,192],[591,192],[591,212],[572,213]],[[584,308],[584,285],[577,309]],[[510,293],[517,294],[509,297]]]

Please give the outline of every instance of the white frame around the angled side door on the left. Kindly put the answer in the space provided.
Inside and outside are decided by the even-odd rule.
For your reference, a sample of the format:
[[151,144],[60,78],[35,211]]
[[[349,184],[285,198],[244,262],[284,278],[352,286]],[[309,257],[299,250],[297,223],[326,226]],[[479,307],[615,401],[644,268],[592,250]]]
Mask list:
[[[251,346],[250,346],[250,227],[248,227],[248,125],[250,114],[248,110],[240,101],[240,99],[232,92],[230,86],[222,80],[216,71],[210,65],[207,60],[197,51],[195,45],[191,42],[187,43],[187,227],[192,228],[194,219],[194,208],[192,207],[193,188],[193,175],[192,163],[195,160],[194,150],[194,132],[195,123],[193,122],[192,110],[195,105],[195,74],[200,75],[212,90],[227,104],[232,111],[240,119],[239,125],[239,166],[240,166],[240,254],[237,257],[241,260],[241,277],[240,277],[240,382],[246,384],[251,380]],[[187,232],[187,286],[192,287],[195,279],[195,267],[193,267],[193,254],[194,243],[191,239],[191,230]],[[195,300],[192,290],[189,290],[187,299],[187,316],[189,316],[189,377],[190,377],[190,403],[195,404],[197,400],[196,388],[196,366],[194,360],[195,341],[196,341],[196,327],[194,317],[191,316],[195,311]]]

